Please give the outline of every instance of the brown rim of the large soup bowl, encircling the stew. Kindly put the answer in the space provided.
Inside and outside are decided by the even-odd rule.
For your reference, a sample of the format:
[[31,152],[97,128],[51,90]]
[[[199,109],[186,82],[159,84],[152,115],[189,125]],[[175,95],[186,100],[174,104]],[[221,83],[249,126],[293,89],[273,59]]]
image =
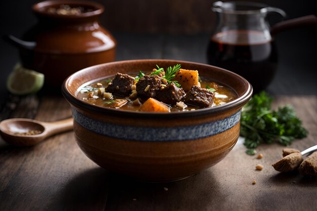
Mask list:
[[[197,110],[192,111],[184,111],[184,112],[169,112],[169,113],[163,113],[163,112],[140,112],[140,111],[130,111],[130,110],[120,110],[120,109],[114,109],[114,108],[107,108],[102,106],[93,105],[91,103],[85,102],[79,98],[77,98],[75,95],[71,94],[71,92],[67,89],[67,84],[69,83],[72,78],[76,77],[76,75],[80,75],[85,72],[89,72],[91,69],[95,69],[101,66],[107,66],[107,65],[115,65],[115,64],[125,64],[125,63],[141,63],[141,62],[170,62],[170,63],[182,63],[182,64],[193,64],[193,65],[201,65],[206,67],[213,67],[216,69],[219,69],[221,71],[228,72],[229,74],[232,74],[233,76],[240,78],[246,85],[247,89],[245,92],[238,98],[234,99],[233,101],[226,103],[224,105],[218,105],[215,107],[210,108],[201,108]],[[96,78],[97,79],[97,78]],[[222,82],[222,81],[221,81]],[[84,84],[84,83],[83,83]],[[107,114],[107,115],[120,115],[122,116],[129,116],[134,118],[164,118],[164,119],[171,119],[171,118],[179,118],[179,117],[197,117],[202,115],[212,115],[212,114],[218,114],[223,113],[225,111],[229,111],[235,108],[239,108],[244,106],[252,97],[253,94],[253,88],[251,84],[242,76],[239,74],[236,74],[234,72],[231,72],[229,70],[203,64],[203,63],[197,63],[197,62],[190,62],[190,61],[182,61],[182,60],[171,60],[171,59],[136,59],[136,60],[123,60],[123,61],[115,61],[115,62],[109,62],[109,63],[103,63],[99,65],[90,66],[87,68],[84,68],[82,70],[78,70],[68,76],[63,84],[62,84],[62,95],[64,98],[72,105],[75,105],[80,108],[87,109],[89,111],[96,111],[100,114]],[[235,91],[236,92],[236,91]]]

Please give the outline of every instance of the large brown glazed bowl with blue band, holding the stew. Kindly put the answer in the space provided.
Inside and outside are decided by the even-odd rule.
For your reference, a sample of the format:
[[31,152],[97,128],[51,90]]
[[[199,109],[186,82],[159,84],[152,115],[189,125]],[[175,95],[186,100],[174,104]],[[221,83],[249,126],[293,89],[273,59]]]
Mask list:
[[[171,113],[125,111],[76,97],[83,85],[116,72],[137,73],[181,64],[232,88],[239,96],[224,105]],[[176,60],[130,60],[88,67],[62,85],[70,103],[78,146],[98,165],[142,181],[168,182],[197,174],[222,160],[240,132],[242,107],[252,96],[243,77],[228,70]]]

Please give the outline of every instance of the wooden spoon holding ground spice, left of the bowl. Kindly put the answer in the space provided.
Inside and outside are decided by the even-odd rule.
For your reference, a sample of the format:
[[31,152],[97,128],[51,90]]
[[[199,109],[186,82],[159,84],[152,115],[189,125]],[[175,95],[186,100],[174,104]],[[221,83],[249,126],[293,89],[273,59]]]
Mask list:
[[15,146],[34,146],[49,136],[70,131],[72,128],[73,118],[54,122],[12,118],[0,122],[2,138]]

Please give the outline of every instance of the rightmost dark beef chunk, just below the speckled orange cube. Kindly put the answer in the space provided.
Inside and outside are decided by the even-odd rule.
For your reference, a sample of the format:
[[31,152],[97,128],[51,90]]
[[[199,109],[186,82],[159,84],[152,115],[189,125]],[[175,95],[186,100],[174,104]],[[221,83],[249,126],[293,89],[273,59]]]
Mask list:
[[184,103],[195,106],[211,107],[215,94],[199,86],[192,86],[183,98]]

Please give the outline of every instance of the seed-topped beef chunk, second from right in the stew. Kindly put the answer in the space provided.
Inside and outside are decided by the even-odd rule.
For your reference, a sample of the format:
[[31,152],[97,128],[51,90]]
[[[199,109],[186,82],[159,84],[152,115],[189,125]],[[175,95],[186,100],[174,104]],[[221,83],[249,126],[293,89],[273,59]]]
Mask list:
[[167,104],[176,104],[185,96],[182,88],[176,87],[175,83],[171,82],[163,90],[157,93],[156,99]]

